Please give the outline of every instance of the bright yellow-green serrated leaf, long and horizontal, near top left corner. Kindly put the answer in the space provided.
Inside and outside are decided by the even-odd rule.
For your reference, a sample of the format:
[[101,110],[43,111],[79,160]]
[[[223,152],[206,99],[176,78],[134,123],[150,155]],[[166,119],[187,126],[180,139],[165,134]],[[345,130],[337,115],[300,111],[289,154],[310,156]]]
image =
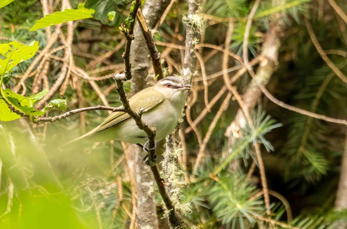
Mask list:
[[84,8],[84,3],[78,5],[78,9],[66,9],[64,11],[54,12],[53,14],[48,14],[37,20],[35,25],[29,29],[29,31],[34,31],[36,29],[57,25],[65,23],[68,21],[75,21],[79,19],[92,18],[94,14],[93,9]]

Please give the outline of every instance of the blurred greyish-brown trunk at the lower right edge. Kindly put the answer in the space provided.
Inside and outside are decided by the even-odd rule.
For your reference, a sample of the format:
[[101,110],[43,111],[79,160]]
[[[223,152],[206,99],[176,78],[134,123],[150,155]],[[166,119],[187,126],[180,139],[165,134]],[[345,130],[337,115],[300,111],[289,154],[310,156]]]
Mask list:
[[[345,152],[342,155],[341,173],[336,192],[335,210],[342,211],[347,209],[347,132],[345,141]],[[337,229],[346,229],[346,222],[341,221]]]

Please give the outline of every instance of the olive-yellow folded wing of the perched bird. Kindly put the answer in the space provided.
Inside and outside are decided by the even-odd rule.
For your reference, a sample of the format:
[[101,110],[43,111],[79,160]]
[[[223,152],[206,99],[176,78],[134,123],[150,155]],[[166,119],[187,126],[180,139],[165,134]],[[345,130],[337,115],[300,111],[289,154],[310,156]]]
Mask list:
[[[150,88],[146,89],[149,90]],[[151,88],[151,90],[153,89]],[[145,91],[143,93],[145,93]],[[143,93],[137,93],[129,99],[129,105],[135,112],[139,111],[140,108],[143,108],[143,112],[146,112],[149,109],[160,104],[164,100],[164,95],[159,92],[157,92],[155,96],[147,98],[143,98]],[[114,112],[110,114],[107,118],[105,118],[105,120],[100,124],[99,128],[96,130],[96,132],[106,130],[111,126],[117,125],[118,123],[126,120],[129,117],[130,116],[125,112]]]

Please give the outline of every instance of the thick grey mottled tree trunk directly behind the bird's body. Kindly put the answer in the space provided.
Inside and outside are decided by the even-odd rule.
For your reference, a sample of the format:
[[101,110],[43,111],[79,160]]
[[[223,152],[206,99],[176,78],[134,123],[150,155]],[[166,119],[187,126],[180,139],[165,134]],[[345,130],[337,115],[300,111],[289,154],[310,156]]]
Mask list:
[[[145,2],[142,13],[150,29],[158,23],[169,3],[169,0],[151,0]],[[131,95],[147,87],[147,75],[152,65],[138,22],[135,24],[134,36],[135,39],[132,42],[130,50],[133,71]],[[142,162],[146,153],[136,145],[132,148],[134,149],[136,161],[137,226],[138,228],[158,228],[154,200],[154,180],[151,170]]]

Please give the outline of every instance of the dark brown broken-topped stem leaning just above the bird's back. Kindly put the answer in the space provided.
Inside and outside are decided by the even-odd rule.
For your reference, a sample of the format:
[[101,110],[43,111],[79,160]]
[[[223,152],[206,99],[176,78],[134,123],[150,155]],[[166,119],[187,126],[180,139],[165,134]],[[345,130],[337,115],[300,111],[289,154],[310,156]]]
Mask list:
[[148,25],[146,23],[145,17],[142,14],[141,9],[137,10],[137,19],[139,21],[139,25],[140,25],[147,49],[152,59],[152,65],[153,65],[155,77],[157,80],[160,80],[164,77],[163,70],[161,68],[161,63],[160,63],[160,53],[155,47],[152,33],[150,29],[148,28]]

